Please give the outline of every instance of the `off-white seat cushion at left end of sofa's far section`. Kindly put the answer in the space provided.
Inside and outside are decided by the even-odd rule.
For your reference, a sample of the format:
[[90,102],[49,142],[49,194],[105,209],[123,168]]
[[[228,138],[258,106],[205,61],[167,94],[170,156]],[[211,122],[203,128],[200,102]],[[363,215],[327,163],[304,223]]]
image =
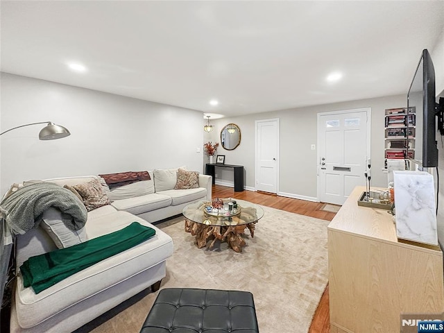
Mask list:
[[153,193],[135,198],[114,200],[111,205],[117,210],[125,210],[137,215],[171,205],[171,196]]

